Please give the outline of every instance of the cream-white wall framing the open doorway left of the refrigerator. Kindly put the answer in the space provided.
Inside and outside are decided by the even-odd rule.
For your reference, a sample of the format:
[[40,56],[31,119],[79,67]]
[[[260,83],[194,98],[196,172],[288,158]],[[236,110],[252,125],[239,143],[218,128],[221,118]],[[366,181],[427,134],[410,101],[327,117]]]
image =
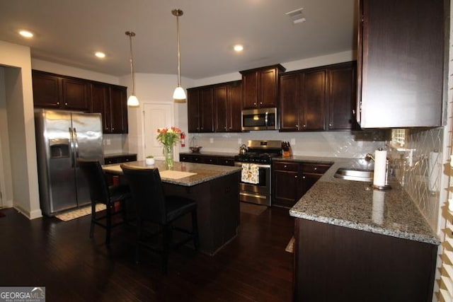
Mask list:
[[[4,68],[13,206],[30,219],[41,216],[36,163],[30,48],[0,41]],[[1,130],[4,131],[4,130]],[[9,177],[9,175],[7,175]]]

